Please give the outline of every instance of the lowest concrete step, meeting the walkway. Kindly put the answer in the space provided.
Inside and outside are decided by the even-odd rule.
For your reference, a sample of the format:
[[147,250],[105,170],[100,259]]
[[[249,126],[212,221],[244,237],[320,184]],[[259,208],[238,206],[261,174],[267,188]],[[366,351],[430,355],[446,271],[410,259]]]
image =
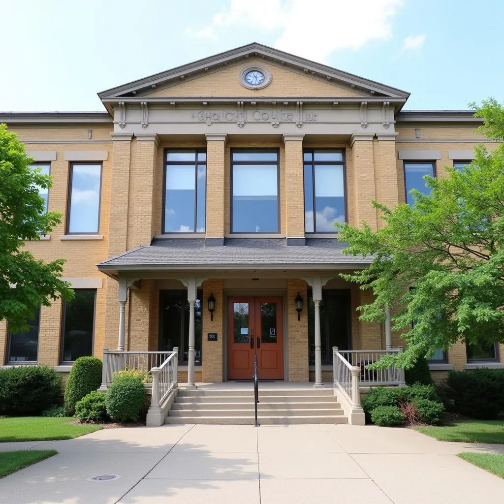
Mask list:
[[[254,416],[167,416],[167,424],[221,424],[221,425],[254,425]],[[348,423],[346,416],[305,416],[305,415],[269,415],[259,417],[261,425],[289,425],[289,424],[321,424],[321,423]]]

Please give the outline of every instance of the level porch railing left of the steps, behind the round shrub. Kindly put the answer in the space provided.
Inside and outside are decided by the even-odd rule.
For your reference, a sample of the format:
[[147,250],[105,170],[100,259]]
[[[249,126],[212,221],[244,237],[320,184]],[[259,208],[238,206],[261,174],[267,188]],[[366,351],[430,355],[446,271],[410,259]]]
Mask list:
[[[175,349],[173,349],[175,350]],[[103,371],[100,390],[106,390],[112,383],[114,373],[123,369],[140,369],[149,373],[159,367],[174,352],[121,352],[103,349]]]

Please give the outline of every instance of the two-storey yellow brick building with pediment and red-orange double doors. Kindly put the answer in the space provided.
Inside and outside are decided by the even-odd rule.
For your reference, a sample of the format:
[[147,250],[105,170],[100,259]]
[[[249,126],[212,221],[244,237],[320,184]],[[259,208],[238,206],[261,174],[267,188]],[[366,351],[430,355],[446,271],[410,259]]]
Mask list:
[[[402,345],[358,320],[369,293],[339,273],[366,261],[342,255],[333,222],[375,229],[372,199],[404,203],[494,145],[469,111],[404,111],[407,92],[256,43],[99,96],[105,112],[0,114],[64,216],[26,247],[65,258],[77,293],[30,333],[0,323],[2,365],[179,348],[189,384],[249,379],[254,355],[264,379],[332,380],[333,347]],[[430,367],[503,357],[460,343]]]

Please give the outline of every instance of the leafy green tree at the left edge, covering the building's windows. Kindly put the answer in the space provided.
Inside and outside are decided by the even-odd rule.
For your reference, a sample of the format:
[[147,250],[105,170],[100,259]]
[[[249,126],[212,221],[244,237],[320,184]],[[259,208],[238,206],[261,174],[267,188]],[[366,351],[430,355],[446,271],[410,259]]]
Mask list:
[[45,212],[38,187],[51,186],[51,178],[30,168],[17,136],[0,124],[0,320],[13,331],[27,330],[43,304],[57,298],[71,299],[70,284],[61,280],[64,260],[37,261],[23,249],[25,240],[38,240],[59,224],[61,214]]

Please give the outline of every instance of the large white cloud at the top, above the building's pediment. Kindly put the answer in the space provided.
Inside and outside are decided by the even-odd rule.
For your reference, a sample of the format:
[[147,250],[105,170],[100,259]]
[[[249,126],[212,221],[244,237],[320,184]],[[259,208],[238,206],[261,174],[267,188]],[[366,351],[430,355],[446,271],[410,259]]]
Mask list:
[[403,0],[231,0],[209,27],[192,31],[215,38],[219,31],[247,27],[280,31],[274,46],[324,61],[338,49],[359,49],[370,40],[392,37],[392,22]]

